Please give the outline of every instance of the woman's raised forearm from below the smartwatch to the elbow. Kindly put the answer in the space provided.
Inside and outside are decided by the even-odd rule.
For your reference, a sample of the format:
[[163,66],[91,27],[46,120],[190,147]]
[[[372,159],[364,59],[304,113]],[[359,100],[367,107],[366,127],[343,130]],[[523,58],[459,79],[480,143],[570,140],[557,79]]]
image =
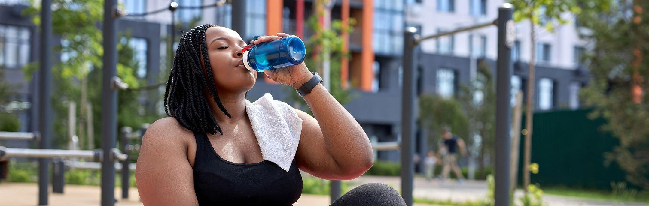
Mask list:
[[352,115],[327,91],[317,84],[308,95],[306,104],[313,112],[329,153],[341,172],[355,172],[373,164],[374,153],[369,138]]

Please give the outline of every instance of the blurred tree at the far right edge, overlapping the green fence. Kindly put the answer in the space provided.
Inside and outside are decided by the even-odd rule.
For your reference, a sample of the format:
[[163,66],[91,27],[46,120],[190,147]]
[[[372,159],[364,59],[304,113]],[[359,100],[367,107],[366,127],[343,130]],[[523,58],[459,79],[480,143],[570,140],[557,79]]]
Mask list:
[[592,118],[620,140],[606,153],[631,183],[649,189],[649,2],[620,0],[610,12],[583,12],[593,50],[585,55],[593,78],[581,97],[594,106]]

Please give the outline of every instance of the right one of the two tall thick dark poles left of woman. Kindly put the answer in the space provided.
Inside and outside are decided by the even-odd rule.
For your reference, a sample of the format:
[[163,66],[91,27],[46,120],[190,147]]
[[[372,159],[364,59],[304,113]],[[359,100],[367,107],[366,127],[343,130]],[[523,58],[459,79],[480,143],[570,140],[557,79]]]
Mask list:
[[115,203],[115,164],[110,161],[117,136],[117,91],[113,77],[117,76],[117,19],[114,14],[117,0],[104,1],[104,68],[101,88],[101,148],[104,151],[101,165],[101,205]]

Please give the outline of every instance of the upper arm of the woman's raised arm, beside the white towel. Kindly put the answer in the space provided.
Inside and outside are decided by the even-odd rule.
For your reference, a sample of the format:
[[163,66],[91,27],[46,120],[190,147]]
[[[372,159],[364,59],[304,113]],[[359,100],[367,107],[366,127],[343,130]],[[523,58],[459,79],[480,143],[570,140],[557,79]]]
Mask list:
[[317,120],[300,109],[295,109],[295,112],[302,119],[300,143],[295,153],[298,168],[322,179],[339,179],[340,177],[336,174],[339,172],[340,166],[327,150],[323,132]]

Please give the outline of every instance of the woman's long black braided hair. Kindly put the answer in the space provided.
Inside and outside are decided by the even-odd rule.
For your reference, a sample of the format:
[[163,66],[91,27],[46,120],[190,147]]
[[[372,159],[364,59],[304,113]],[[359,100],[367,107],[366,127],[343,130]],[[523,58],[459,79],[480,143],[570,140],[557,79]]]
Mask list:
[[[206,90],[214,97],[219,109],[232,118],[223,107],[214,84],[205,42],[205,31],[210,27],[218,26],[206,24],[194,27],[180,37],[165,88],[164,109],[167,116],[175,117],[180,125],[188,130],[209,132],[212,135],[218,131],[223,135],[207,102],[212,98],[205,98],[202,93]],[[203,65],[206,71],[203,71]]]

